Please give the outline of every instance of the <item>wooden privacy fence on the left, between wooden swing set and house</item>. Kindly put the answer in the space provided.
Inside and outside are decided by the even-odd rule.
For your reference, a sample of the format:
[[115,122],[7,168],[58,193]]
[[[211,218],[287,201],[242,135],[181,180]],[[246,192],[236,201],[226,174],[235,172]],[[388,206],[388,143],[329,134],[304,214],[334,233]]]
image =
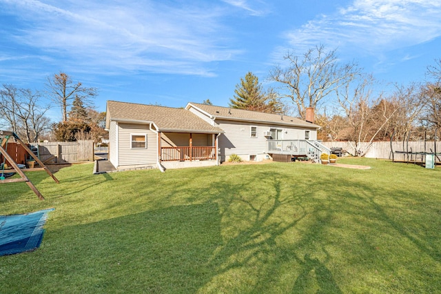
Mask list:
[[61,164],[94,160],[94,141],[39,142],[31,144],[38,148],[40,160],[48,164]]

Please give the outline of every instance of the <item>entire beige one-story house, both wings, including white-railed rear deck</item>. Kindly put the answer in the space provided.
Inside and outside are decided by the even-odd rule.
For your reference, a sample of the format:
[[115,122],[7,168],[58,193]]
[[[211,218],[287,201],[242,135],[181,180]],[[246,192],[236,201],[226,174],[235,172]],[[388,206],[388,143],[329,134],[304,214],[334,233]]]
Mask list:
[[[314,117],[314,115],[313,115]],[[210,166],[230,155],[320,157],[320,126],[286,115],[189,103],[185,108],[107,101],[109,160],[119,170]]]

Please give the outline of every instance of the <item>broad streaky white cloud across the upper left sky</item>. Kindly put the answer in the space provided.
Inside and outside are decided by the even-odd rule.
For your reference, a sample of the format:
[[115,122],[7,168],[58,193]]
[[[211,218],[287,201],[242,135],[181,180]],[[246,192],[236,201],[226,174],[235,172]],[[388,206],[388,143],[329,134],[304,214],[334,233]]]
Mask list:
[[[240,54],[216,6],[161,1],[0,0],[29,25],[15,41],[101,70],[213,75],[207,64]],[[199,3],[201,4],[201,3]]]

